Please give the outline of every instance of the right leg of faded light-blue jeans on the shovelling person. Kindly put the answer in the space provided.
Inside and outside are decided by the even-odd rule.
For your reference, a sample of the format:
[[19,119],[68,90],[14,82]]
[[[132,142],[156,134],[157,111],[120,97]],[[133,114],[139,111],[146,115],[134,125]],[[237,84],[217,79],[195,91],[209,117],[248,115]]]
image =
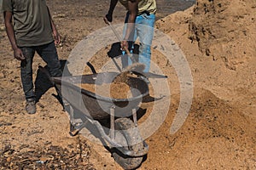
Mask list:
[[145,72],[150,69],[151,44],[154,36],[154,14],[141,14],[137,16],[136,30],[140,40],[139,63],[146,65]]

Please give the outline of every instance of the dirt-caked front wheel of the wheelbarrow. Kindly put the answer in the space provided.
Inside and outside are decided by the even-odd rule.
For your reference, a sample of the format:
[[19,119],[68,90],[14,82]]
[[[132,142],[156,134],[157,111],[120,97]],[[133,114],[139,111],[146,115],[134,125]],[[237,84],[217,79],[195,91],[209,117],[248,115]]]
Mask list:
[[[128,118],[119,118],[115,120],[115,141],[122,144],[126,150],[138,153],[143,148],[143,139],[135,126]],[[126,156],[124,153],[115,148],[113,158],[124,169],[135,169],[143,161],[143,156]]]

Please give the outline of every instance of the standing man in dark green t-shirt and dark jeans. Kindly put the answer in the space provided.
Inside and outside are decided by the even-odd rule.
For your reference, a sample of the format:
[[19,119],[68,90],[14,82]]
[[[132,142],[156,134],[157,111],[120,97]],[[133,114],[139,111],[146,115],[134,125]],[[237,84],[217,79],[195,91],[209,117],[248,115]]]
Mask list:
[[35,52],[49,66],[52,77],[61,77],[61,63],[55,44],[60,36],[50,17],[45,0],[0,0],[6,32],[20,60],[21,82],[26,97],[26,111],[36,113],[36,95],[32,82],[32,59]]

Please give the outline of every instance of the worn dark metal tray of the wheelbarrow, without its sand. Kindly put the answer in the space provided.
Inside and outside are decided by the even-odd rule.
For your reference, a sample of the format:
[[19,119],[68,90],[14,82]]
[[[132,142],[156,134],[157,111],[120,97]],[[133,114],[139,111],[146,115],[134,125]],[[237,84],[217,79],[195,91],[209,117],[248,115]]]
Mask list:
[[136,109],[142,102],[143,97],[148,95],[148,84],[137,77],[127,78],[127,85],[131,89],[137,89],[135,90],[136,93],[132,93],[132,97],[128,99],[113,99],[101,96],[77,85],[80,83],[95,85],[111,83],[113,78],[118,75],[118,72],[102,72],[72,77],[51,77],[50,79],[55,82],[56,88],[61,91],[63,99],[66,99],[73,108],[79,110],[85,116],[100,120],[108,118],[111,109],[114,109],[115,116],[131,116],[131,110]]

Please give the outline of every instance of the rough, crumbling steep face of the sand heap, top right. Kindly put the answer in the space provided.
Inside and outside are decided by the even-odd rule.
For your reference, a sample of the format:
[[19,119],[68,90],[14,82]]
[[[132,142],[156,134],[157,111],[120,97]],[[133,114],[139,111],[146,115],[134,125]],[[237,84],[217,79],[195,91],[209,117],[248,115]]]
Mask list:
[[251,0],[199,0],[189,20],[190,38],[201,52],[236,70],[255,56],[255,8]]

